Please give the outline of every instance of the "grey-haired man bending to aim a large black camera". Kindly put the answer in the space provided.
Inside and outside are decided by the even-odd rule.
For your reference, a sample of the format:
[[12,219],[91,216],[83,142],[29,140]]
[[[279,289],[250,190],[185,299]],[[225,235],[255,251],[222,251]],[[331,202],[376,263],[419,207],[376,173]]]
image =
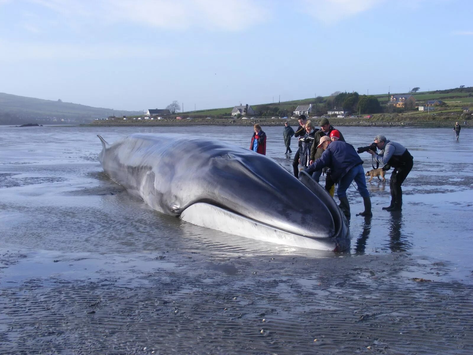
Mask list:
[[[376,148],[380,153],[376,153]],[[358,153],[367,151],[373,158],[383,166],[390,165],[394,168],[389,179],[389,188],[391,189],[391,204],[383,207],[386,211],[401,211],[403,206],[403,189],[401,185],[414,164],[411,153],[401,144],[391,142],[384,135],[377,135],[375,142],[368,147],[358,148]],[[386,169],[388,170],[388,169]]]

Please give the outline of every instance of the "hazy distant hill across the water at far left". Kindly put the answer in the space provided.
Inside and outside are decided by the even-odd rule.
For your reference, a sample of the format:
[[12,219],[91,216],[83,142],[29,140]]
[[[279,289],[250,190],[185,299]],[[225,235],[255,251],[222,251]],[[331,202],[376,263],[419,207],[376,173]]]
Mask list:
[[140,111],[90,107],[61,100],[43,100],[0,93],[0,124],[88,123],[109,115],[139,115]]

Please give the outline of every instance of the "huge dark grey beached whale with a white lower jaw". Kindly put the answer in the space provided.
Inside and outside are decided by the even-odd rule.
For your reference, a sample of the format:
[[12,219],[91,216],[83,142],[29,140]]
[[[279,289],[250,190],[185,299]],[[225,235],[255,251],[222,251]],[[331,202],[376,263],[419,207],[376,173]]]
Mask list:
[[105,173],[152,208],[203,227],[289,246],[342,251],[348,223],[325,190],[254,151],[182,134],[100,138]]

